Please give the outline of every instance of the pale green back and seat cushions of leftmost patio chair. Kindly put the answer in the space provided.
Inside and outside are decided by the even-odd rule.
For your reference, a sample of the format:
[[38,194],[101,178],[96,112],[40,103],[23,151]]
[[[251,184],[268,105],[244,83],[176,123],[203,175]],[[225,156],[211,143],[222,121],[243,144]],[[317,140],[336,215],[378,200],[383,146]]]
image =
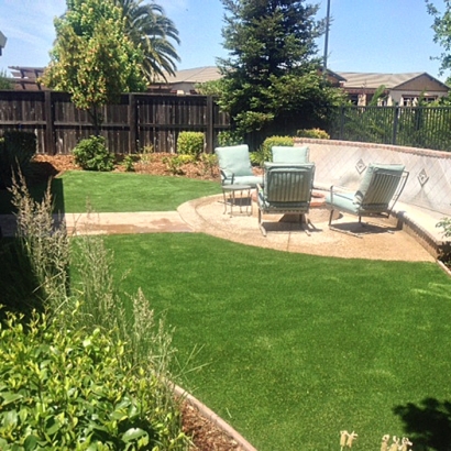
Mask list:
[[216,147],[222,185],[249,185],[255,188],[263,183],[262,176],[252,172],[248,144]]

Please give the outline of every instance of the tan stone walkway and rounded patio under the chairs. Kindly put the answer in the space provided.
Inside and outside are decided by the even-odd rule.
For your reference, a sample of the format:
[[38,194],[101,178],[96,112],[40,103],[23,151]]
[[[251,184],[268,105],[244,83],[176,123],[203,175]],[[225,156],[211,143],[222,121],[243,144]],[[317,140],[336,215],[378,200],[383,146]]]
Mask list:
[[[360,238],[332,231],[328,227],[329,212],[311,209],[308,216],[309,234],[298,223],[286,222],[282,217],[264,216],[267,237],[263,237],[257,223],[256,207],[240,213],[239,209],[224,213],[221,195],[195,199],[182,205],[177,211],[125,212],[125,213],[68,213],[65,221],[69,234],[200,232],[242,244],[275,249],[286,252],[301,252],[314,255],[329,255],[346,258],[375,258],[387,261],[433,262],[436,255],[418,232],[399,230],[395,221],[372,221],[362,228],[356,218],[341,216],[334,224],[343,231],[359,232]],[[398,215],[415,217],[422,224],[422,231],[439,240],[440,231],[435,227],[440,218],[424,211],[407,211],[398,207]],[[425,226],[426,224],[426,226]],[[15,233],[13,216],[0,216],[0,228],[4,237]],[[411,232],[411,230],[410,230]],[[421,234],[421,233],[420,233]]]

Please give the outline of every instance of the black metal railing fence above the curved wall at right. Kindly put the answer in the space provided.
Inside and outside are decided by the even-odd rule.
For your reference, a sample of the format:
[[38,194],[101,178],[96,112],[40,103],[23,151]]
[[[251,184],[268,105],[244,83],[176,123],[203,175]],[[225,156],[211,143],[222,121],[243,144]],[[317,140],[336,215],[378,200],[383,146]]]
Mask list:
[[333,140],[451,152],[451,108],[341,107],[329,134]]

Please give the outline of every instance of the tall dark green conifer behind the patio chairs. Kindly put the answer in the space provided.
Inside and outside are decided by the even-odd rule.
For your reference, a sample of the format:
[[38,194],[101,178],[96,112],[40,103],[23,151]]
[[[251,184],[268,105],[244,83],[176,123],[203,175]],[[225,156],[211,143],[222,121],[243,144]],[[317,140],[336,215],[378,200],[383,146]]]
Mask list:
[[324,22],[314,18],[318,6],[305,0],[221,0],[228,59],[219,103],[244,134],[294,133],[321,125],[341,91],[320,75],[316,38]]

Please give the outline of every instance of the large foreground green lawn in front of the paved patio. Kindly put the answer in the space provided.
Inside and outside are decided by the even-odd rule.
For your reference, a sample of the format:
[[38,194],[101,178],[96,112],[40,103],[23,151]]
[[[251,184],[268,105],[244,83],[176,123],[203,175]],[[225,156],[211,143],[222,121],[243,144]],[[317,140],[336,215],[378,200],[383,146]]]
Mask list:
[[[290,254],[202,234],[106,243],[118,276],[131,270],[125,289],[141,286],[167,312],[179,358],[200,349],[195,365],[207,365],[187,388],[258,451],[338,450],[343,429],[359,433],[358,449],[378,449],[391,433],[413,437],[417,451],[416,421],[433,436],[431,416],[451,400],[451,285],[436,264]],[[439,403],[433,411],[426,398]]]

